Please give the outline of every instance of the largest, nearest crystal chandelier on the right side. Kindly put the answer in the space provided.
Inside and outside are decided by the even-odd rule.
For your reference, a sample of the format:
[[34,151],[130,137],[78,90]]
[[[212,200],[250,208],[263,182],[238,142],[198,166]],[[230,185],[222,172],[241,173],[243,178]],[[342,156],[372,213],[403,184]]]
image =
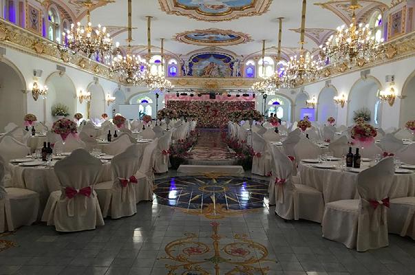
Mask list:
[[355,10],[361,8],[357,0],[352,0],[349,9],[352,10],[352,23],[349,28],[345,25],[337,28],[337,34],[330,36],[326,45],[320,45],[320,58],[325,63],[349,63],[363,66],[374,61],[384,51],[383,39],[376,41],[369,25],[357,24]]

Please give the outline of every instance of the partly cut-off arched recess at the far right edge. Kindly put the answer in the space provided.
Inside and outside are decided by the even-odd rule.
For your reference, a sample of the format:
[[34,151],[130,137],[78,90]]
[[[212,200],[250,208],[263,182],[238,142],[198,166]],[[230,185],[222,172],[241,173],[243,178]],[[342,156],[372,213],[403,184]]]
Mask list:
[[401,111],[399,115],[399,126],[404,127],[409,120],[415,120],[415,72],[405,81],[402,89]]

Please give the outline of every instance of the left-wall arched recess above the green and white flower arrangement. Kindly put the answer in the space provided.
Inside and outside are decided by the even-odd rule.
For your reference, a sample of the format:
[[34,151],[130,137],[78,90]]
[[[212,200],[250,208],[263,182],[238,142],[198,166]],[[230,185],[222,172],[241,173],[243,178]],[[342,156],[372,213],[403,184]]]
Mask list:
[[[45,122],[52,124],[56,118],[52,115],[54,104],[64,104],[68,109],[68,118],[72,118],[76,113],[76,89],[69,76],[58,72],[47,77],[45,85],[49,87],[47,98],[45,99]],[[84,114],[85,115],[85,114]]]

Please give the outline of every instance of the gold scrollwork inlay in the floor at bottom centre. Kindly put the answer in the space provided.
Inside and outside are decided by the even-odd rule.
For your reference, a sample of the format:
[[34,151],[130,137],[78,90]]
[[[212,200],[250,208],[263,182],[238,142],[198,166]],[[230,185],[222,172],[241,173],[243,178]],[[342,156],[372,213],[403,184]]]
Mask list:
[[[213,234],[211,243],[202,242],[198,234],[185,232],[184,238],[168,243],[164,248],[167,256],[159,260],[169,260],[166,268],[169,275],[254,275],[268,274],[269,267],[259,265],[266,261],[268,249],[261,243],[248,239],[245,234],[234,234],[233,239],[226,239],[218,233],[220,223],[211,223]],[[221,240],[225,243],[221,243]],[[275,261],[273,261],[275,263]],[[231,270],[221,273],[224,269]],[[214,270],[212,273],[211,270]]]

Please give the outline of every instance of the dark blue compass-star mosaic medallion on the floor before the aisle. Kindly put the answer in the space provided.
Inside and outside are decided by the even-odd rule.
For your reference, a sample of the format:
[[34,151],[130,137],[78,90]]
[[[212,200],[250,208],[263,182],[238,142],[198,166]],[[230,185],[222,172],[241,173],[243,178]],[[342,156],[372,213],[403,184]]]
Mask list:
[[158,203],[222,219],[265,207],[268,181],[225,175],[169,177],[156,180],[154,193]]

